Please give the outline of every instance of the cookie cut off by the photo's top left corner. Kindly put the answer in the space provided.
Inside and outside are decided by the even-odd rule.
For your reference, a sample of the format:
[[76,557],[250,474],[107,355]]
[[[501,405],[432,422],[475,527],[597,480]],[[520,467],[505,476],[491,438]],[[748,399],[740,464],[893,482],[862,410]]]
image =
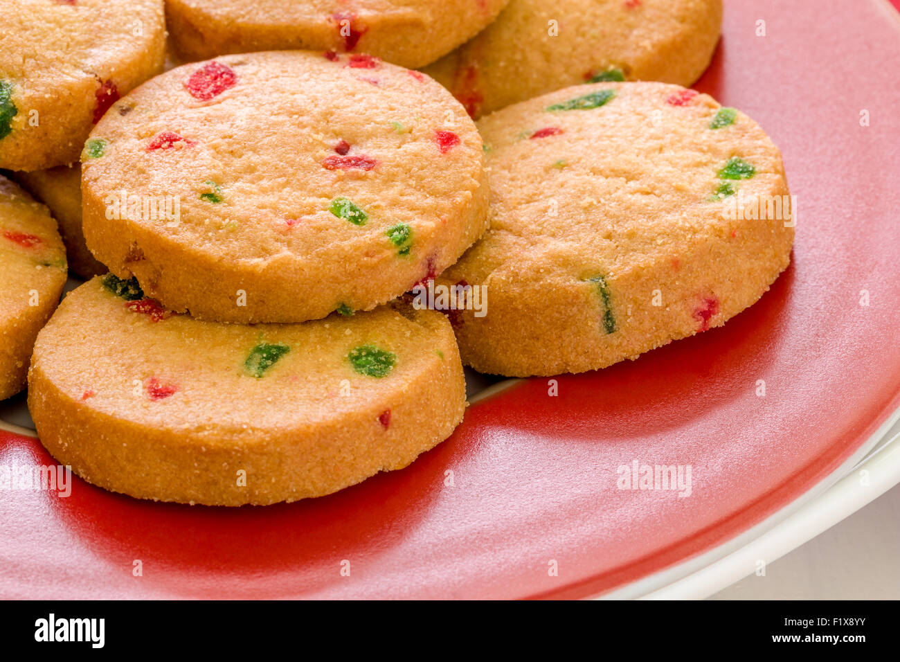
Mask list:
[[163,66],[163,0],[0,0],[0,168],[78,160],[103,113]]

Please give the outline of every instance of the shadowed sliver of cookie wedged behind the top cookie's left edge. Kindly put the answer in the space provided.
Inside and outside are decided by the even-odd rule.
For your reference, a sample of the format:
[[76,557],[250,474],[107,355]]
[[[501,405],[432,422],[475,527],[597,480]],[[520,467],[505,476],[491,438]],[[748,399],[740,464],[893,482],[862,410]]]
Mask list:
[[81,231],[81,166],[22,172],[16,178],[31,195],[49,207],[59,223],[59,234],[66,244],[68,268],[83,278],[106,273],[106,268],[85,246],[85,235]]

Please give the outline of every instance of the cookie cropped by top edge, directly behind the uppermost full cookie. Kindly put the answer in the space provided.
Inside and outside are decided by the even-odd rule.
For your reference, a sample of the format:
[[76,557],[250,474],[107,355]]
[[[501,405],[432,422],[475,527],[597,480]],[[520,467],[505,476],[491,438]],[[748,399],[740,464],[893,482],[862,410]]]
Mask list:
[[424,67],[491,23],[509,0],[166,0],[185,59],[256,50],[365,52]]

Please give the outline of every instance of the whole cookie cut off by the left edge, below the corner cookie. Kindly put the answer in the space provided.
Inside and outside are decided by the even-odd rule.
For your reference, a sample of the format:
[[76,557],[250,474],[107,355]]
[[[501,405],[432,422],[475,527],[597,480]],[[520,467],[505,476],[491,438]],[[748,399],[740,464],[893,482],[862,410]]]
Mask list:
[[43,204],[0,177],[0,400],[25,387],[31,348],[66,285],[66,250]]

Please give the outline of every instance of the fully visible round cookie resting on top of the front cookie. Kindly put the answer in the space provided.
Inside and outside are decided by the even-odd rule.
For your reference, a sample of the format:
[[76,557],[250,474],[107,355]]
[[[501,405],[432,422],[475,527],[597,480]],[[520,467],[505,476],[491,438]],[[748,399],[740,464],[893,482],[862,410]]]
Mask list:
[[482,139],[453,96],[370,56],[184,65],[85,145],[85,240],[176,312],[303,322],[371,310],[487,225]]

